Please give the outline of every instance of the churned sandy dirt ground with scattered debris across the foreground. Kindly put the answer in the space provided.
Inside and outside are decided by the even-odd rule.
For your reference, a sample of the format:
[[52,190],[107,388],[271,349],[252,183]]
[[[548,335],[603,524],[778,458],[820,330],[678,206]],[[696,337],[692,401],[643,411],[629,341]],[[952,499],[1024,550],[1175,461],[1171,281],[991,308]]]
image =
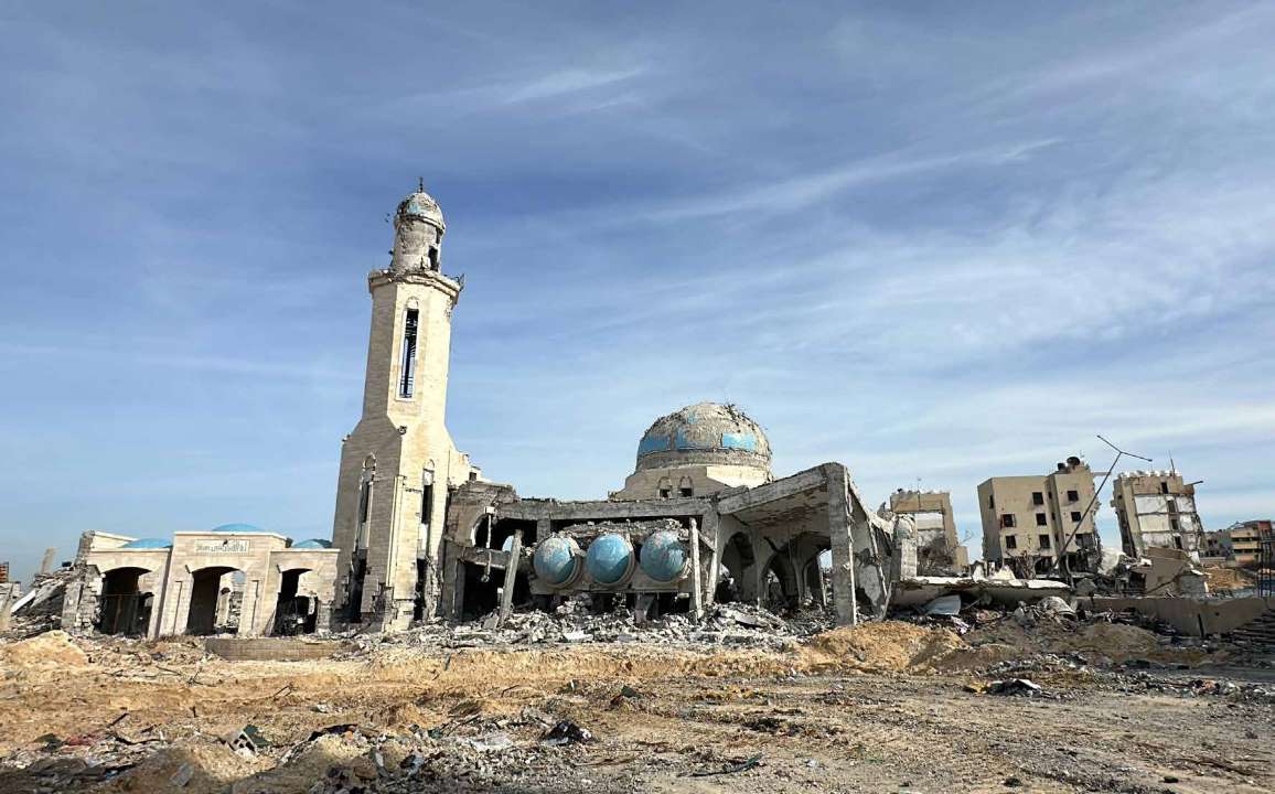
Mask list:
[[[1271,791],[1252,661],[1103,623],[296,663],[51,632],[0,645],[0,791]],[[984,691],[1012,675],[1042,695]]]

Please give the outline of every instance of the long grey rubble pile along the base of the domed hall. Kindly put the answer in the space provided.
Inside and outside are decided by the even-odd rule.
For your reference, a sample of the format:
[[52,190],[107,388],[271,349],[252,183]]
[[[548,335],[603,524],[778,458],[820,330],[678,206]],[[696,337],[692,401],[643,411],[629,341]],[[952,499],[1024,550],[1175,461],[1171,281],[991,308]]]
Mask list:
[[555,612],[518,612],[502,622],[492,613],[467,623],[435,622],[395,635],[349,639],[363,650],[374,644],[476,647],[539,642],[672,642],[784,650],[831,626],[831,612],[817,608],[785,618],[762,607],[729,603],[710,605],[699,623],[676,613],[638,622],[622,605],[593,614],[585,602],[567,600]]

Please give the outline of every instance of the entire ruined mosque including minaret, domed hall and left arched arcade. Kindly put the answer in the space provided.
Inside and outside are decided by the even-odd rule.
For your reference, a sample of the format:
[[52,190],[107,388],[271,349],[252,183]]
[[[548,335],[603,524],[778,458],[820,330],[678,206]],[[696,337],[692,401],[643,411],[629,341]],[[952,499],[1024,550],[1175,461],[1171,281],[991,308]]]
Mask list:
[[389,266],[367,277],[362,417],[342,441],[332,540],[293,544],[247,524],[172,540],[89,533],[68,628],[398,631],[566,598],[622,603],[639,617],[699,614],[723,599],[783,608],[829,598],[840,623],[885,614],[900,570],[914,570],[895,551],[912,548],[913,520],[870,511],[839,463],[774,477],[766,435],[732,405],[657,419],[607,498],[523,498],[487,482],[445,423],[451,312],[464,287],[442,270],[445,231],[439,204],[413,192],[394,213]]

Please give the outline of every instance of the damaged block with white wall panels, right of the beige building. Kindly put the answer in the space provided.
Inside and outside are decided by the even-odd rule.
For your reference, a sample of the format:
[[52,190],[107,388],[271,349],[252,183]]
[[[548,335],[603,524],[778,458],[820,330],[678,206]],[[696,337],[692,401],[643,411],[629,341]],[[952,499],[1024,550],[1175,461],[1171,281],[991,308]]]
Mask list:
[[1148,547],[1176,548],[1200,562],[1204,526],[1196,512],[1195,483],[1177,472],[1126,472],[1112,498],[1121,545],[1130,557]]

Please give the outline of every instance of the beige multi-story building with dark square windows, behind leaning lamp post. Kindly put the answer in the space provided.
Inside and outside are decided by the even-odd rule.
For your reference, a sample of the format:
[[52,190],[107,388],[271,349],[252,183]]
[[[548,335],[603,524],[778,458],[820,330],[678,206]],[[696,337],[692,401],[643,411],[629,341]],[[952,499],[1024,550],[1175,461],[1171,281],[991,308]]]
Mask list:
[[1094,531],[1094,473],[1076,456],[1049,474],[984,480],[978,506],[983,558],[1019,575],[1091,570],[1102,554]]

